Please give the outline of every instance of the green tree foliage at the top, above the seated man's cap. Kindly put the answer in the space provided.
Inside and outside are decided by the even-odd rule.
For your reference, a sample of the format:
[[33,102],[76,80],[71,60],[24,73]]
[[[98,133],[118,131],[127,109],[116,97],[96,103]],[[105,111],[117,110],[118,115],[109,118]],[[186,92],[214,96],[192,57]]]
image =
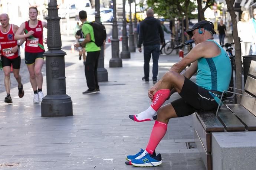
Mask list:
[[[149,7],[152,7],[154,13],[164,18],[182,18],[185,13],[192,17],[192,11],[197,7],[195,0],[147,0]],[[187,7],[186,7],[187,6]],[[194,16],[193,16],[194,17]]]

